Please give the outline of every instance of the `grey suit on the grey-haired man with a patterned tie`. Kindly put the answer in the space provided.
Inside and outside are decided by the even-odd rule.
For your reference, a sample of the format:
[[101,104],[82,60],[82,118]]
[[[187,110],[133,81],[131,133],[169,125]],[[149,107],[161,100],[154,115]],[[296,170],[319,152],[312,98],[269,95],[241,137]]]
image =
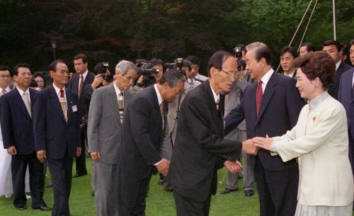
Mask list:
[[[124,108],[127,108],[132,94],[129,91],[123,93]],[[118,216],[118,149],[121,133],[114,84],[93,91],[87,134],[89,152],[101,153],[101,158],[94,166],[97,216]]]

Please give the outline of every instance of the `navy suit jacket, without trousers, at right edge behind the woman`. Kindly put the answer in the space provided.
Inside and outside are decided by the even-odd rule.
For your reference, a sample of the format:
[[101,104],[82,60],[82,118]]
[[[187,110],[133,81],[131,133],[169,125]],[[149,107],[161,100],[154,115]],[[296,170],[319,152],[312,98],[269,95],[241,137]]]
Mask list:
[[338,89],[338,101],[346,109],[348,128],[352,137],[354,137],[353,73],[354,68],[342,74]]

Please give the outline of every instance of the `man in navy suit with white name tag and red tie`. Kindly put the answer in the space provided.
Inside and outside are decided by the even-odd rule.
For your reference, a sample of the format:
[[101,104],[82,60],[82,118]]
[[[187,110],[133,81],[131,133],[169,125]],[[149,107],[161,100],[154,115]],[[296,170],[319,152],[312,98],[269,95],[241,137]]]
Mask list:
[[65,88],[69,71],[62,60],[52,62],[49,71],[53,85],[37,93],[33,108],[35,151],[42,163],[47,159],[52,175],[52,216],[69,216],[72,161],[81,154],[78,97]]

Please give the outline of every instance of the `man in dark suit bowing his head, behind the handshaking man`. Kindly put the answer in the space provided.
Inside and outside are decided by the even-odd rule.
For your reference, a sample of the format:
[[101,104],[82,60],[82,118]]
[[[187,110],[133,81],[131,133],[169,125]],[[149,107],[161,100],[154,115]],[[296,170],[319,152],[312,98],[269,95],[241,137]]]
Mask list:
[[139,91],[125,109],[118,153],[120,216],[145,215],[145,198],[154,169],[167,175],[170,162],[159,154],[166,122],[164,101],[173,101],[184,81],[181,72],[170,69],[159,84]]

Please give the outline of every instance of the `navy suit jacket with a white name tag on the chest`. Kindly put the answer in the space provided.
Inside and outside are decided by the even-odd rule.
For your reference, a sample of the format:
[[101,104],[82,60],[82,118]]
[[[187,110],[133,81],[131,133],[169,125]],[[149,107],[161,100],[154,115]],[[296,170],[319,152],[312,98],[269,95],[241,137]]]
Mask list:
[[35,151],[46,150],[47,158],[63,159],[66,154],[76,157],[80,145],[80,123],[77,94],[65,89],[68,120],[65,121],[59,98],[53,86],[37,93],[33,107]]

